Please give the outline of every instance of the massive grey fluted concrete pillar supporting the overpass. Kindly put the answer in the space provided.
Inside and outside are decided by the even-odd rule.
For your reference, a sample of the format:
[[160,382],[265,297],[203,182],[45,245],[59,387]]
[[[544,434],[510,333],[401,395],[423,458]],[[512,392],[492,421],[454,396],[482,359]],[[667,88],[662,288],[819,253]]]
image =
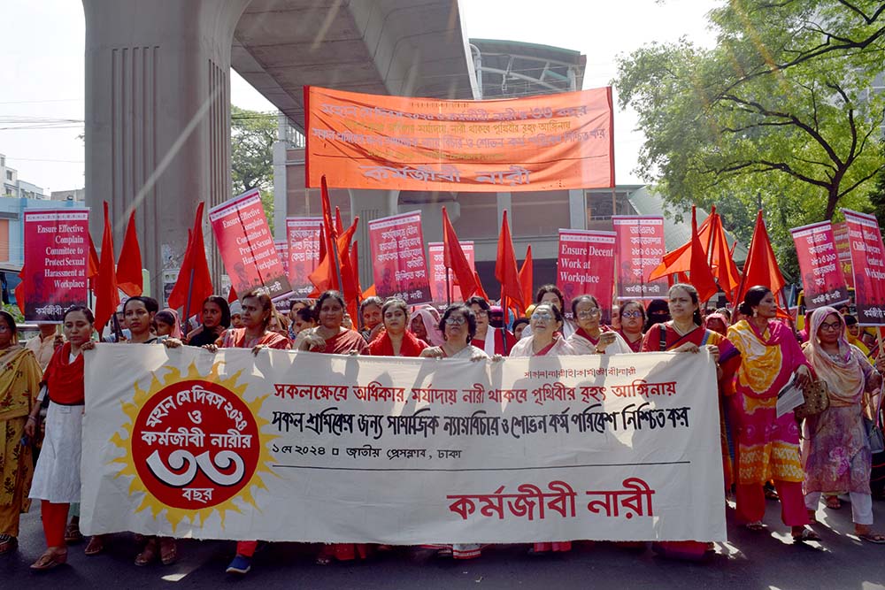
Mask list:
[[230,48],[249,4],[83,0],[90,229],[100,238],[102,201],[111,203],[119,250],[135,208],[154,293],[161,272],[181,266],[196,203],[208,209],[231,196]]

